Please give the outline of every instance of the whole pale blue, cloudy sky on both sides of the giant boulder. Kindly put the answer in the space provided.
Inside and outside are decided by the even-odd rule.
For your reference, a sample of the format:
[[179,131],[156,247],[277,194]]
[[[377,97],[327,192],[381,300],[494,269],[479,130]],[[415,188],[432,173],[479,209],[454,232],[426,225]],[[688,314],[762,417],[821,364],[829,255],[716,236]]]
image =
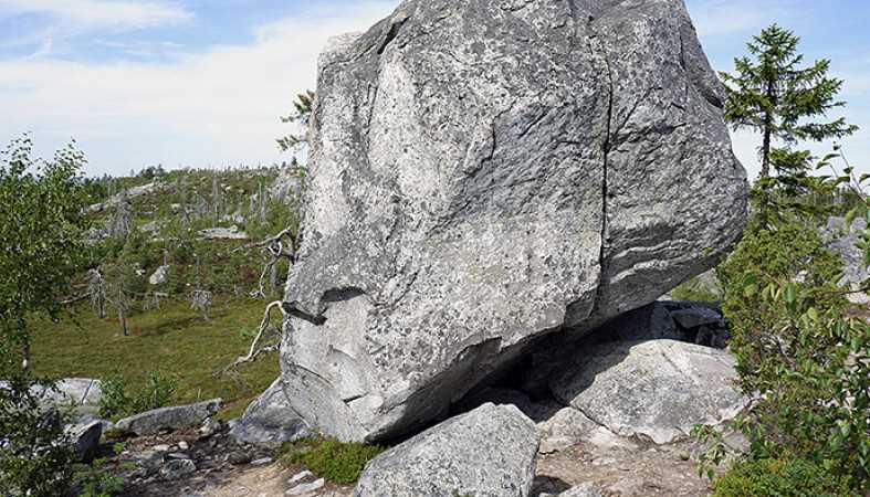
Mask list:
[[[555,0],[554,0],[555,1]],[[30,131],[48,156],[71,138],[87,172],[271,163],[295,92],[312,88],[326,39],[368,28],[398,0],[0,0],[0,142]],[[772,22],[832,59],[845,141],[870,172],[870,2],[686,0],[707,55],[730,70]],[[751,175],[757,139],[734,136]],[[824,154],[830,144],[814,149]]]

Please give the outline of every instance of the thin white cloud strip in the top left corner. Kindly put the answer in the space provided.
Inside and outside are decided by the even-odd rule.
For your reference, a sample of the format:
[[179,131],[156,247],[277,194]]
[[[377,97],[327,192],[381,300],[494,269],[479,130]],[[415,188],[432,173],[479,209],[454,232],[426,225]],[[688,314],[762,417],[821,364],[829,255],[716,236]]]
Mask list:
[[83,29],[139,29],[189,21],[176,3],[132,0],[0,0],[0,12],[44,13]]

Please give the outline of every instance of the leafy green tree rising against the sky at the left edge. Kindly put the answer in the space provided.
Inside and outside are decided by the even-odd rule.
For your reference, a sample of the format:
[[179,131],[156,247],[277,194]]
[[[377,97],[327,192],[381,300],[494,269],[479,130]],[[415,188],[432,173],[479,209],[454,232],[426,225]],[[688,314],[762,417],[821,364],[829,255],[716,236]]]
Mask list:
[[88,226],[82,152],[70,145],[43,161],[32,151],[25,136],[0,152],[0,340],[21,348],[25,368],[28,319],[60,315],[61,297],[86,258]]

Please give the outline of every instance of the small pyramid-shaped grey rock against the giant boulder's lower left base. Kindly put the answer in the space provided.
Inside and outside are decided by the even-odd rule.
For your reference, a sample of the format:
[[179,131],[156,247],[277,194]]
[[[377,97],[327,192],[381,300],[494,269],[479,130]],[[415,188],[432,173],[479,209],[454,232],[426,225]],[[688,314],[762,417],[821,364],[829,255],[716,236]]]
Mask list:
[[248,444],[281,444],[308,436],[307,424],[290,406],[281,379],[254,401],[230,435]]

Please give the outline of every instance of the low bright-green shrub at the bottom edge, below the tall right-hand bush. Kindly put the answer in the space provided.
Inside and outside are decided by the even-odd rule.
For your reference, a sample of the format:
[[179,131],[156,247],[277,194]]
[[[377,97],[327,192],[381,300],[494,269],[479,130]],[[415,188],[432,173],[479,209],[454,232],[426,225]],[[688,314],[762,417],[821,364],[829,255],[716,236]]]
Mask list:
[[847,497],[855,494],[817,464],[794,458],[741,461],[714,483],[714,497]]

